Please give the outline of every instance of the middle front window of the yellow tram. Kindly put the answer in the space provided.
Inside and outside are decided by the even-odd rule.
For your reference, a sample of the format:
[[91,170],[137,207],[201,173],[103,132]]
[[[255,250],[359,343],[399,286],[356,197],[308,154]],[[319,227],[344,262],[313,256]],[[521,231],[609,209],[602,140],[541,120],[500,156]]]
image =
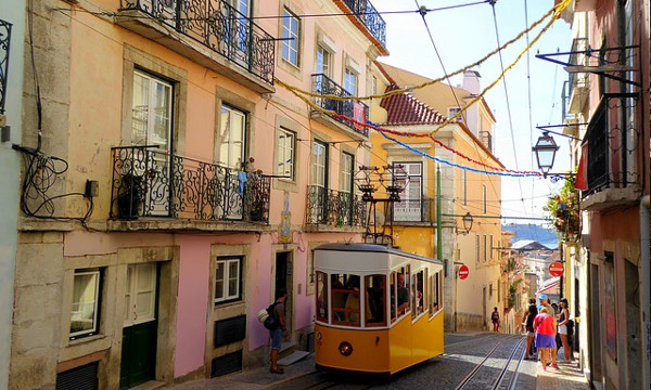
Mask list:
[[332,274],[332,323],[359,326],[359,276]]

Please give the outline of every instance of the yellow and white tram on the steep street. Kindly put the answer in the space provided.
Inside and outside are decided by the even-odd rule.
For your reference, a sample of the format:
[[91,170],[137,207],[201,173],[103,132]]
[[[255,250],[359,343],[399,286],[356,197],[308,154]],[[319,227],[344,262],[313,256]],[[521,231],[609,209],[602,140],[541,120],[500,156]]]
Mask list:
[[314,268],[317,367],[392,375],[444,352],[441,261],[323,244]]

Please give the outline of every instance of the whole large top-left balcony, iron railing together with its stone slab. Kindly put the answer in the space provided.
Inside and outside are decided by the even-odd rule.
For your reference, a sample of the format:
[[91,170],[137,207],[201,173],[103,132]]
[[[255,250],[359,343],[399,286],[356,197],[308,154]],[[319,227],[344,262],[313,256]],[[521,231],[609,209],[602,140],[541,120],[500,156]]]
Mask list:
[[273,92],[273,37],[226,1],[123,1],[118,25],[256,92]]

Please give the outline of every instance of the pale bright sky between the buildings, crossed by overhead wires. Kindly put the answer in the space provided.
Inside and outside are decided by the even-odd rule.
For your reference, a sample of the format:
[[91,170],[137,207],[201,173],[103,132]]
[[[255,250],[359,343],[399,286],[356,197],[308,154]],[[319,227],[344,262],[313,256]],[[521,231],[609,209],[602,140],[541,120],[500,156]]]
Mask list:
[[[478,1],[371,0],[371,2],[382,13],[414,11],[419,5],[439,9]],[[386,22],[390,55],[380,57],[379,61],[425,77],[442,77],[477,62],[497,49],[498,38],[500,46],[503,46],[526,29],[527,25],[531,26],[545,15],[553,6],[553,0],[497,0],[494,6],[495,18],[494,8],[487,2],[427,12],[425,21],[434,44],[419,13],[384,13],[382,17]],[[548,21],[549,18],[542,25]],[[529,32],[529,43],[539,30],[540,28],[536,28]],[[532,47],[528,55],[523,55],[522,60],[506,74],[505,79],[486,93],[485,100],[497,119],[493,135],[494,153],[508,169],[537,171],[532,146],[542,132],[536,126],[562,123],[561,91],[563,81],[567,79],[567,73],[560,65],[536,58],[535,54],[567,52],[571,50],[571,43],[570,24],[559,18]],[[523,37],[512,47],[503,50],[503,67],[507,68],[515,61],[526,46],[526,37]],[[482,77],[481,88],[484,89],[501,74],[499,55],[493,56],[473,69],[478,70]],[[460,84],[461,77],[451,78],[450,83]],[[567,141],[558,135],[554,135],[554,139],[561,148],[557,154],[552,171],[566,171],[570,168]],[[547,197],[551,192],[558,191],[562,184],[562,182],[553,184],[549,179],[541,178],[503,177],[501,182],[501,211],[505,217],[544,217],[542,206],[547,203]],[[541,223],[535,220],[513,219],[502,220],[502,222]]]

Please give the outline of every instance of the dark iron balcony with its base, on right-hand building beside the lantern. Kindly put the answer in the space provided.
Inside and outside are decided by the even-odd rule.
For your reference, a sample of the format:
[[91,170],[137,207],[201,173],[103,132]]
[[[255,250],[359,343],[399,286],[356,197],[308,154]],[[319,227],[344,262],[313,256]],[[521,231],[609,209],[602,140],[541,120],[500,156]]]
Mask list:
[[[625,120],[636,108],[636,100],[604,96],[592,115],[584,144],[587,144],[587,184],[582,191],[583,210],[602,210],[638,202],[641,152],[635,121]],[[642,170],[643,171],[643,170]]]

